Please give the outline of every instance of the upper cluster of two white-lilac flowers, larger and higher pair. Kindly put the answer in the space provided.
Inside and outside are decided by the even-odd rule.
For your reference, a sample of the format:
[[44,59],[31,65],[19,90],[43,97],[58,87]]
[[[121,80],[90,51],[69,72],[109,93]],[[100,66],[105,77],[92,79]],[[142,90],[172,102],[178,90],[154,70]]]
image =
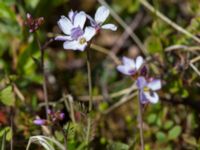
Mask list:
[[[55,40],[64,41],[64,49],[84,51],[100,29],[117,30],[114,24],[102,25],[109,13],[105,6],[101,6],[97,9],[93,19],[83,11],[74,12],[71,10],[68,17],[61,16],[58,21],[58,26],[65,35],[59,35]],[[90,21],[90,26],[84,27],[87,18]]]

